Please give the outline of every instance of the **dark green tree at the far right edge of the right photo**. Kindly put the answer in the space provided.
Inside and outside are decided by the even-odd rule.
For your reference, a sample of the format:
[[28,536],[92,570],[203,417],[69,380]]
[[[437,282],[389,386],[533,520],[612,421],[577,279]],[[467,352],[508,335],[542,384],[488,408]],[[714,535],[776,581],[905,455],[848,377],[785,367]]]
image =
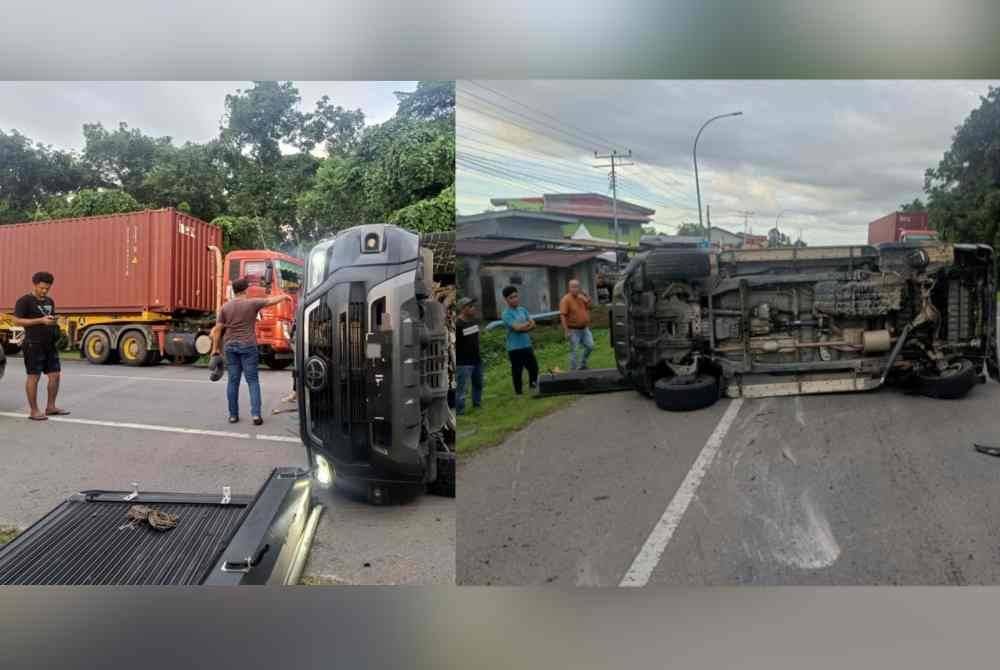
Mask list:
[[989,87],[924,177],[930,222],[946,240],[1000,244],[1000,88]]

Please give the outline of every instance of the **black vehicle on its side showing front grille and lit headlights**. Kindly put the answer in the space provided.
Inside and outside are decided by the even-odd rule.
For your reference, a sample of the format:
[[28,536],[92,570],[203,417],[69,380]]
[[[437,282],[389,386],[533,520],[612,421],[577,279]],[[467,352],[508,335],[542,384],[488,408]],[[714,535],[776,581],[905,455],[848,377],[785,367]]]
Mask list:
[[455,495],[445,307],[433,254],[393,225],[317,245],[296,328],[302,441],[321,482],[384,503],[426,487]]

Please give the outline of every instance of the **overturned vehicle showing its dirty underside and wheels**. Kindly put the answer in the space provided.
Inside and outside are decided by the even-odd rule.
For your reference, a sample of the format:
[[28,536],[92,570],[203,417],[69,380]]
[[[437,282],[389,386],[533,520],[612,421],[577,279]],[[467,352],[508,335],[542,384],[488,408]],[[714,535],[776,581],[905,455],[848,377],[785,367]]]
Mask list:
[[959,398],[997,378],[996,288],[985,245],[654,247],[615,285],[611,338],[668,410],[886,382]]

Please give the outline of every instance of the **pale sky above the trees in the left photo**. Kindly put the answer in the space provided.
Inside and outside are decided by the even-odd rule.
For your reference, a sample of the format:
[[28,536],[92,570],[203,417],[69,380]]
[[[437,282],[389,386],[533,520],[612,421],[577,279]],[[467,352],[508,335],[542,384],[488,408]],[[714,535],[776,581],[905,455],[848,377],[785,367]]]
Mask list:
[[[227,93],[250,82],[0,82],[0,130],[16,129],[37,142],[83,148],[83,124],[115,128],[125,121],[175,144],[218,135]],[[396,111],[393,91],[412,91],[410,81],[296,82],[303,111],[322,96],[348,109],[361,108],[366,122],[381,123]]]

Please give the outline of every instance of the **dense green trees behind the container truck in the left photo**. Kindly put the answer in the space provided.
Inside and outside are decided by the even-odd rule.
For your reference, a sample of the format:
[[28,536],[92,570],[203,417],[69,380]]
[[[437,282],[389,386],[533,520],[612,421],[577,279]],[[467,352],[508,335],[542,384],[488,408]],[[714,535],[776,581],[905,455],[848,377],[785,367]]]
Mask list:
[[292,82],[257,81],[225,97],[215,139],[182,146],[127,123],[84,125],[80,155],[0,132],[0,223],[176,207],[221,226],[227,250],[301,250],[360,223],[451,229],[454,83],[396,96],[395,116],[366,126],[329,96],[305,111]]

